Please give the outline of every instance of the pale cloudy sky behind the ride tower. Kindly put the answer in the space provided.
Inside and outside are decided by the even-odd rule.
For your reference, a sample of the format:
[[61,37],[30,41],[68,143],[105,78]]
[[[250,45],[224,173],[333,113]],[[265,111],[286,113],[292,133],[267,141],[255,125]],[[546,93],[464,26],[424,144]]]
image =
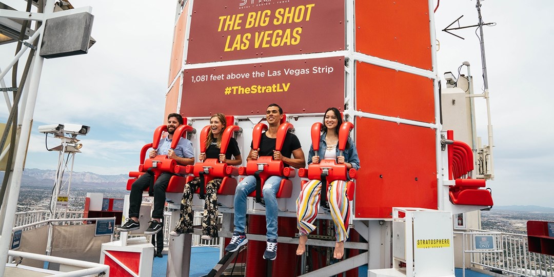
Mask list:
[[[3,2],[20,5],[22,1]],[[45,150],[39,125],[74,123],[91,126],[90,133],[80,137],[84,146],[76,155],[74,171],[126,174],[136,170],[140,148],[164,121],[176,1],[71,3],[93,6],[92,35],[97,43],[86,55],[45,60],[26,167],[56,167],[58,155]],[[463,61],[469,61],[479,93],[483,79],[475,28],[454,31],[464,40],[440,31],[461,15],[460,25],[476,24],[475,3],[441,1],[435,29],[440,43],[439,76],[456,72]],[[554,62],[554,20],[548,18],[554,2],[486,0],[481,4],[484,22],[496,23],[484,28],[495,155],[495,179],[487,186],[493,189],[497,206],[554,207],[554,129],[548,127],[554,121],[548,81]],[[0,45],[2,70],[14,49],[15,45]],[[4,80],[11,83],[11,78]],[[7,114],[7,109],[0,109],[2,121]],[[476,114],[478,135],[485,138],[485,100],[476,100]],[[50,148],[57,144],[48,139]]]

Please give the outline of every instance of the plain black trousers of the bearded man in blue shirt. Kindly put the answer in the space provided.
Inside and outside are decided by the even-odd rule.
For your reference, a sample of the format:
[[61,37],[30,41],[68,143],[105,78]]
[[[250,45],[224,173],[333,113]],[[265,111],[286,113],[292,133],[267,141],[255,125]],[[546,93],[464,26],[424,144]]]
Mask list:
[[[172,173],[162,173],[154,183],[154,210],[152,218],[163,218],[163,207],[166,202],[166,188],[170,182]],[[131,186],[129,195],[129,217],[139,217],[140,205],[142,203],[142,191],[150,186],[153,176],[148,173],[143,174]]]

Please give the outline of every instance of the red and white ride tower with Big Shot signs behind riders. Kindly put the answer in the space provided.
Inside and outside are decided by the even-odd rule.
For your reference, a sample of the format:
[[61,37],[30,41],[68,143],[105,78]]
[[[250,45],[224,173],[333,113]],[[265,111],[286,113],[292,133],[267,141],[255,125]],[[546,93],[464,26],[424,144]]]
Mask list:
[[[236,139],[245,160],[254,126],[276,103],[294,125],[307,160],[310,127],[321,122],[327,107],[337,107],[354,125],[350,136],[361,163],[351,237],[363,239],[346,242],[345,248],[367,252],[310,274],[332,275],[363,264],[392,268],[393,207],[458,211],[448,201],[449,183],[443,182],[449,167],[435,51],[433,1],[188,0],[177,7],[165,114],[178,112],[196,130],[217,112],[234,116],[228,125],[242,130]],[[189,136],[196,156],[197,134]],[[253,216],[265,211],[254,199],[249,202],[247,276],[305,272],[304,262],[295,270],[283,266],[296,263],[298,242],[295,202],[301,178],[290,179],[291,197],[278,199],[280,244],[273,269],[252,263],[263,261],[254,240],[265,240],[265,220]],[[218,196],[223,237],[233,231],[232,199]],[[201,210],[202,202],[195,201]],[[319,238],[332,237],[332,224],[325,223],[329,214],[318,218],[323,219]],[[334,245],[324,239],[310,238],[307,245]]]

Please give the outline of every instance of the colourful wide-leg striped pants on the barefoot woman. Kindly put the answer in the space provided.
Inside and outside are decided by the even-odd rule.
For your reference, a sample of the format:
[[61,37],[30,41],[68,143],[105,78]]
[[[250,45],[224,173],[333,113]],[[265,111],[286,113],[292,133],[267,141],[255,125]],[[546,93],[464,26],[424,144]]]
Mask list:
[[[346,198],[346,182],[333,181],[327,187],[327,201],[331,209],[331,217],[335,223],[337,242],[344,242],[350,231],[350,203]],[[296,218],[300,235],[311,233],[315,229],[314,223],[319,211],[321,182],[310,180],[302,188],[296,199]]]

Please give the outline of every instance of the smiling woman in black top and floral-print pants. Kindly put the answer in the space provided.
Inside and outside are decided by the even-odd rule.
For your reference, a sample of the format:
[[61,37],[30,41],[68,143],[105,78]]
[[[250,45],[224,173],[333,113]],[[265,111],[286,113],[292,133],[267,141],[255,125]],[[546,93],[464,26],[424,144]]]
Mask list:
[[[227,127],[227,120],[225,120],[224,114],[216,114],[209,120],[211,126],[211,132],[209,132],[206,139],[206,153],[200,153],[198,160],[204,161],[206,158],[218,158],[220,162],[227,163],[228,165],[237,166],[242,163],[242,157],[240,157],[240,150],[237,140],[233,137],[230,138],[227,152],[221,154],[221,139],[223,130]],[[234,156],[234,160],[231,157]],[[222,178],[214,178],[206,184],[206,194],[204,204],[204,217],[202,218],[202,239],[211,240],[212,238],[219,237],[217,233],[216,221],[217,221],[217,190],[221,185]],[[181,201],[181,218],[177,221],[175,229],[170,232],[170,235],[179,236],[183,233],[190,234],[193,232],[193,219],[192,212],[192,197],[194,192],[201,185],[200,178],[196,177],[192,181],[184,185],[183,199]]]

